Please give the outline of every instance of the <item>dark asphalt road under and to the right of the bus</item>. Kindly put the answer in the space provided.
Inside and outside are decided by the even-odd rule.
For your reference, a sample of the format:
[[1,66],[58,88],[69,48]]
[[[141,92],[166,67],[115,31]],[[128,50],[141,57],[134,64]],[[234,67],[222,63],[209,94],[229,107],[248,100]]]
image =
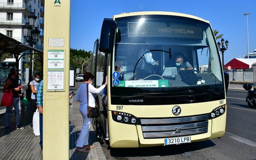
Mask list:
[[104,143],[103,151],[111,160],[256,160],[256,108],[248,108],[246,93],[228,90],[226,133],[221,139],[146,148],[112,149]]

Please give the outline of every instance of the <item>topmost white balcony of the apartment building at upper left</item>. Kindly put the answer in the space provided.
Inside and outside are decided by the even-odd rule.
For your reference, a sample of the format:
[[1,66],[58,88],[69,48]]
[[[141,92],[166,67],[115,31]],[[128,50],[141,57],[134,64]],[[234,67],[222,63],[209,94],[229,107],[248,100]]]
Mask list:
[[24,10],[31,13],[32,9],[26,3],[0,2],[0,9]]

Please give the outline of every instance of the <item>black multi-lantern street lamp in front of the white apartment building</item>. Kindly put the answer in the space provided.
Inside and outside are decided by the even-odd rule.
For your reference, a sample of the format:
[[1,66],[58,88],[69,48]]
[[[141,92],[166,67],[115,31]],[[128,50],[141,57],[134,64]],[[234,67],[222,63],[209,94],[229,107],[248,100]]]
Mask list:
[[[40,34],[40,30],[35,27],[37,16],[34,13],[28,15],[29,23],[26,23],[23,26],[23,37],[26,39],[26,42],[29,43],[29,46],[33,47],[33,45],[37,44],[38,35]],[[30,51],[30,67],[29,67],[29,82],[32,81],[32,52]]]

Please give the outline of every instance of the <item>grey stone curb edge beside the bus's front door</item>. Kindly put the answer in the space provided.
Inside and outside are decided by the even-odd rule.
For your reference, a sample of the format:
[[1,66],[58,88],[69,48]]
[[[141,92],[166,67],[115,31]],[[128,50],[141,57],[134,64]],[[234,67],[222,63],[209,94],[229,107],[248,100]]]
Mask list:
[[96,149],[96,153],[97,153],[98,159],[99,160],[107,160],[106,156],[105,156],[105,154],[103,152],[103,149],[102,149],[100,143],[98,142],[97,135],[96,135],[96,133],[95,133],[95,131],[94,131],[92,126],[90,127],[90,137],[91,137],[91,140],[93,140],[93,142],[94,142],[93,145],[94,145],[94,147]]

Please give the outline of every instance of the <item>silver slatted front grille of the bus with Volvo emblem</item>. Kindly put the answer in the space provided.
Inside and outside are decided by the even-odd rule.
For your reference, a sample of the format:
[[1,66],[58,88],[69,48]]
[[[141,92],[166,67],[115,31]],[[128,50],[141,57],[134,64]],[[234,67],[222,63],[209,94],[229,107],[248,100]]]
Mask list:
[[[181,118],[141,119],[144,138],[165,138],[206,133],[209,115]],[[180,132],[176,131],[180,129]]]

